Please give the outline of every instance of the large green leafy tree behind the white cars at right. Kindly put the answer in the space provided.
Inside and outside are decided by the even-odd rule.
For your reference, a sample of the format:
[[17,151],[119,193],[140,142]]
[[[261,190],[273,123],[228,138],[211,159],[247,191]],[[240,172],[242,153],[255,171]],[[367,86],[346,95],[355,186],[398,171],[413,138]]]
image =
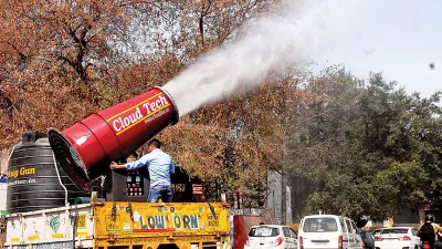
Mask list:
[[[327,87],[325,87],[327,85]],[[329,69],[299,105],[287,156],[297,217],[319,210],[382,220],[400,208],[441,203],[441,107],[371,74]]]

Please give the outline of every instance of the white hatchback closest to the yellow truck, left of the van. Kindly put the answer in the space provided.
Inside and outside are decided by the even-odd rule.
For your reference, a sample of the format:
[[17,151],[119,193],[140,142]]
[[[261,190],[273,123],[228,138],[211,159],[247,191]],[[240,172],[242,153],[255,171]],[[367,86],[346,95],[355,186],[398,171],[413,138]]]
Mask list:
[[287,226],[254,226],[244,249],[297,249],[297,234]]

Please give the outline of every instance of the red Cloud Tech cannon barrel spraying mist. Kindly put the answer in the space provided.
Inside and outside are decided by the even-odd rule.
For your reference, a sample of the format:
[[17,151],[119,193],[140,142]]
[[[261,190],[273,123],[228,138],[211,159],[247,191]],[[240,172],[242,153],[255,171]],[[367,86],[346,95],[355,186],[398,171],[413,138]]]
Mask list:
[[49,129],[54,155],[72,181],[85,193],[109,163],[131,155],[161,129],[178,122],[178,108],[161,87],[94,113],[71,127]]

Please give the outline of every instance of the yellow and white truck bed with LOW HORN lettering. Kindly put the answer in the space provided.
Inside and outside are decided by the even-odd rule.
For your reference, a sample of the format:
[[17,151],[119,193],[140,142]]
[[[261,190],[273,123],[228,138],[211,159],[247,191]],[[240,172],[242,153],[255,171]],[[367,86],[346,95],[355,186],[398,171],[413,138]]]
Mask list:
[[91,201],[11,214],[2,249],[227,249],[229,207],[222,203]]

